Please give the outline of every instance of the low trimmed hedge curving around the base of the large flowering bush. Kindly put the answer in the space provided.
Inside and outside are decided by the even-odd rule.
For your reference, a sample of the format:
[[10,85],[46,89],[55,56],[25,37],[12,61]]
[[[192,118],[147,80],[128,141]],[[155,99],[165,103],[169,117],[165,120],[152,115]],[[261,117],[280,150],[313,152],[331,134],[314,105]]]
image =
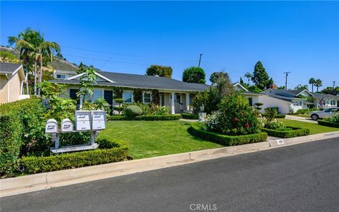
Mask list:
[[258,134],[249,134],[244,136],[227,136],[200,129],[199,124],[200,123],[191,124],[191,127],[188,129],[189,134],[199,137],[201,139],[205,139],[207,141],[219,143],[224,146],[237,146],[246,143],[257,143],[261,141],[266,141],[267,139],[266,132],[260,132]]

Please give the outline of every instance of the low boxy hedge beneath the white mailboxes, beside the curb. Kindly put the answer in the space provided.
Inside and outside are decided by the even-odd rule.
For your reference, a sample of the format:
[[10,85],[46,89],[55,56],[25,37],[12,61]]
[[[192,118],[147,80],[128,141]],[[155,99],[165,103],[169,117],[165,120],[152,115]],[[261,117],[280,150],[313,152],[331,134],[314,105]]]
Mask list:
[[90,151],[64,153],[47,157],[23,157],[20,165],[24,173],[52,172],[89,165],[99,165],[124,160],[129,151],[127,143],[116,141],[109,136],[99,136],[96,139],[99,148]]

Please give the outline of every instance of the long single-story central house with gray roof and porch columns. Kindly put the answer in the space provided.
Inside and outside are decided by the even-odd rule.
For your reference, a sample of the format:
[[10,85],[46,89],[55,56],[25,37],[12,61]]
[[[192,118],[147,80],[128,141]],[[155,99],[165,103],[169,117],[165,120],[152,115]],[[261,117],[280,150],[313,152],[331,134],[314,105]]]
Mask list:
[[[59,72],[61,73],[61,72]],[[56,78],[51,82],[67,85],[70,98],[77,99],[76,93],[80,85],[80,78],[84,73],[71,76],[69,78]],[[189,105],[196,93],[206,90],[210,86],[198,83],[185,83],[172,78],[161,76],[145,76],[130,73],[113,73],[107,71],[98,71],[97,83],[93,85],[93,96],[89,100],[94,102],[98,98],[105,98],[109,105],[117,105],[114,102],[114,90],[122,90],[122,98],[125,103],[133,102],[133,90],[143,90],[143,103],[152,102],[153,90],[157,90],[160,98],[160,105],[169,106],[170,112],[180,113],[182,110],[188,110]],[[57,75],[56,75],[57,76]],[[83,102],[78,102],[82,105]]]

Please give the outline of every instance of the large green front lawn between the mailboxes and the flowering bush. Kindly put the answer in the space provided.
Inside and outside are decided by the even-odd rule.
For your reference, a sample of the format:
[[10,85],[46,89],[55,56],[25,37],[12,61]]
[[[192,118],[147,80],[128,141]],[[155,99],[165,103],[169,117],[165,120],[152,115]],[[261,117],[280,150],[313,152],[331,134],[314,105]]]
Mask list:
[[189,126],[182,121],[114,121],[107,122],[100,134],[129,143],[129,155],[134,159],[222,147],[191,136]]

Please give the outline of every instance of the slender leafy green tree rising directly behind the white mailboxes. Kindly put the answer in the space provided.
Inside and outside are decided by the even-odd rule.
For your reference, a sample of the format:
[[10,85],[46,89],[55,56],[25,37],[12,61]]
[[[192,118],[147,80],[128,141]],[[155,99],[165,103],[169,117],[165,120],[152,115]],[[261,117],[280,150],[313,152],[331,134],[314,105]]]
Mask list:
[[80,84],[81,88],[76,93],[78,98],[81,98],[83,100],[83,104],[85,104],[85,98],[86,96],[88,98],[92,98],[93,95],[93,84],[96,84],[97,76],[95,75],[95,70],[93,68],[87,68],[85,69],[85,72],[83,76],[80,78]]

